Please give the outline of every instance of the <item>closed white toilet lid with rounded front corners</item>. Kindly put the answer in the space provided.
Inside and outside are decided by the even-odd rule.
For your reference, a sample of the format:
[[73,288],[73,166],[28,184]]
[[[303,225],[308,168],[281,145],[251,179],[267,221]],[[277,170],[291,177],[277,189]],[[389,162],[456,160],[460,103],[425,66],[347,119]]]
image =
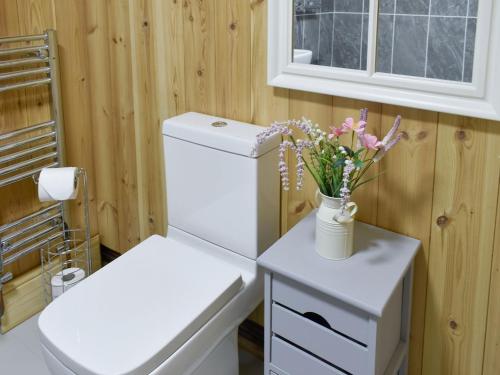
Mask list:
[[152,236],[47,306],[41,341],[78,374],[147,374],[241,287],[234,266]]

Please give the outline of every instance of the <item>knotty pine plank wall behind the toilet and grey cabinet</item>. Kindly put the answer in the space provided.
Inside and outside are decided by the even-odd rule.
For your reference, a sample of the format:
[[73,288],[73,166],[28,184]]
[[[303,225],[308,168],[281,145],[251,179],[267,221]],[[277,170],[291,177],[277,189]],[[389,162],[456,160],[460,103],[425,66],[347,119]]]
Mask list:
[[[370,128],[383,134],[401,114],[404,139],[380,163],[386,173],[355,199],[361,220],[423,242],[410,373],[500,373],[500,123],[268,87],[266,7],[0,0],[0,34],[58,30],[70,160],[91,172],[102,243],[122,252],[164,232],[167,116],[199,111],[257,124],[307,116],[326,128],[368,107]],[[314,190],[308,180],[283,194],[283,232],[315,206]]]

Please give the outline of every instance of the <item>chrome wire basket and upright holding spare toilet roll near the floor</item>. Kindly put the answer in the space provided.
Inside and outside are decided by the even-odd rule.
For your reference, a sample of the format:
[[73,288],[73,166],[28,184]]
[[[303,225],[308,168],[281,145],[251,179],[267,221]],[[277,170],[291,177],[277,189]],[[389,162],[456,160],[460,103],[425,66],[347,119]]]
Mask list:
[[87,174],[84,169],[79,169],[77,178],[83,179],[83,228],[71,229],[64,224],[61,232],[51,236],[40,249],[47,304],[92,273]]

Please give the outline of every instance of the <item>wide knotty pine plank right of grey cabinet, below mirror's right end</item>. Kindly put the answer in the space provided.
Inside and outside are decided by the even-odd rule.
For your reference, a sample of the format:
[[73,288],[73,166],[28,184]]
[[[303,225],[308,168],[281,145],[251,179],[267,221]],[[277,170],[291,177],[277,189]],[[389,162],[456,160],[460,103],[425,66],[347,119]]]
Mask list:
[[424,374],[482,371],[500,174],[500,133],[492,128],[440,115]]

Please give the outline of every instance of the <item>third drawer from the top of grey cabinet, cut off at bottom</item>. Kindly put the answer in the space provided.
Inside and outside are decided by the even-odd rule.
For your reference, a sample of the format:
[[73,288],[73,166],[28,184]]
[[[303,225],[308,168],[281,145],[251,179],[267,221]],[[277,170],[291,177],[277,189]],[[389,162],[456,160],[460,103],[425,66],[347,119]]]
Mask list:
[[[271,363],[289,375],[345,375],[277,337],[271,341]],[[277,375],[272,371],[271,374]]]

